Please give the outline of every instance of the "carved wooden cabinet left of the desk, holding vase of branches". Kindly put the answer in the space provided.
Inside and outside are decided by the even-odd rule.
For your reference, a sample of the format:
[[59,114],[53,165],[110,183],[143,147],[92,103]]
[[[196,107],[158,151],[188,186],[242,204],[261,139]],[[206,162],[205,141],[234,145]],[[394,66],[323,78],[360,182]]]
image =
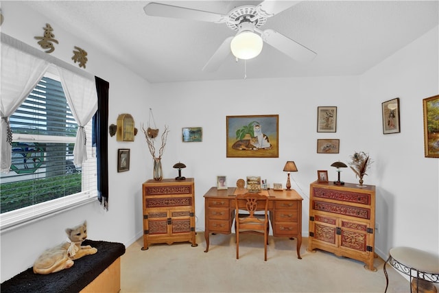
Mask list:
[[143,189],[143,248],[149,244],[195,243],[195,186],[186,180],[147,180]]

